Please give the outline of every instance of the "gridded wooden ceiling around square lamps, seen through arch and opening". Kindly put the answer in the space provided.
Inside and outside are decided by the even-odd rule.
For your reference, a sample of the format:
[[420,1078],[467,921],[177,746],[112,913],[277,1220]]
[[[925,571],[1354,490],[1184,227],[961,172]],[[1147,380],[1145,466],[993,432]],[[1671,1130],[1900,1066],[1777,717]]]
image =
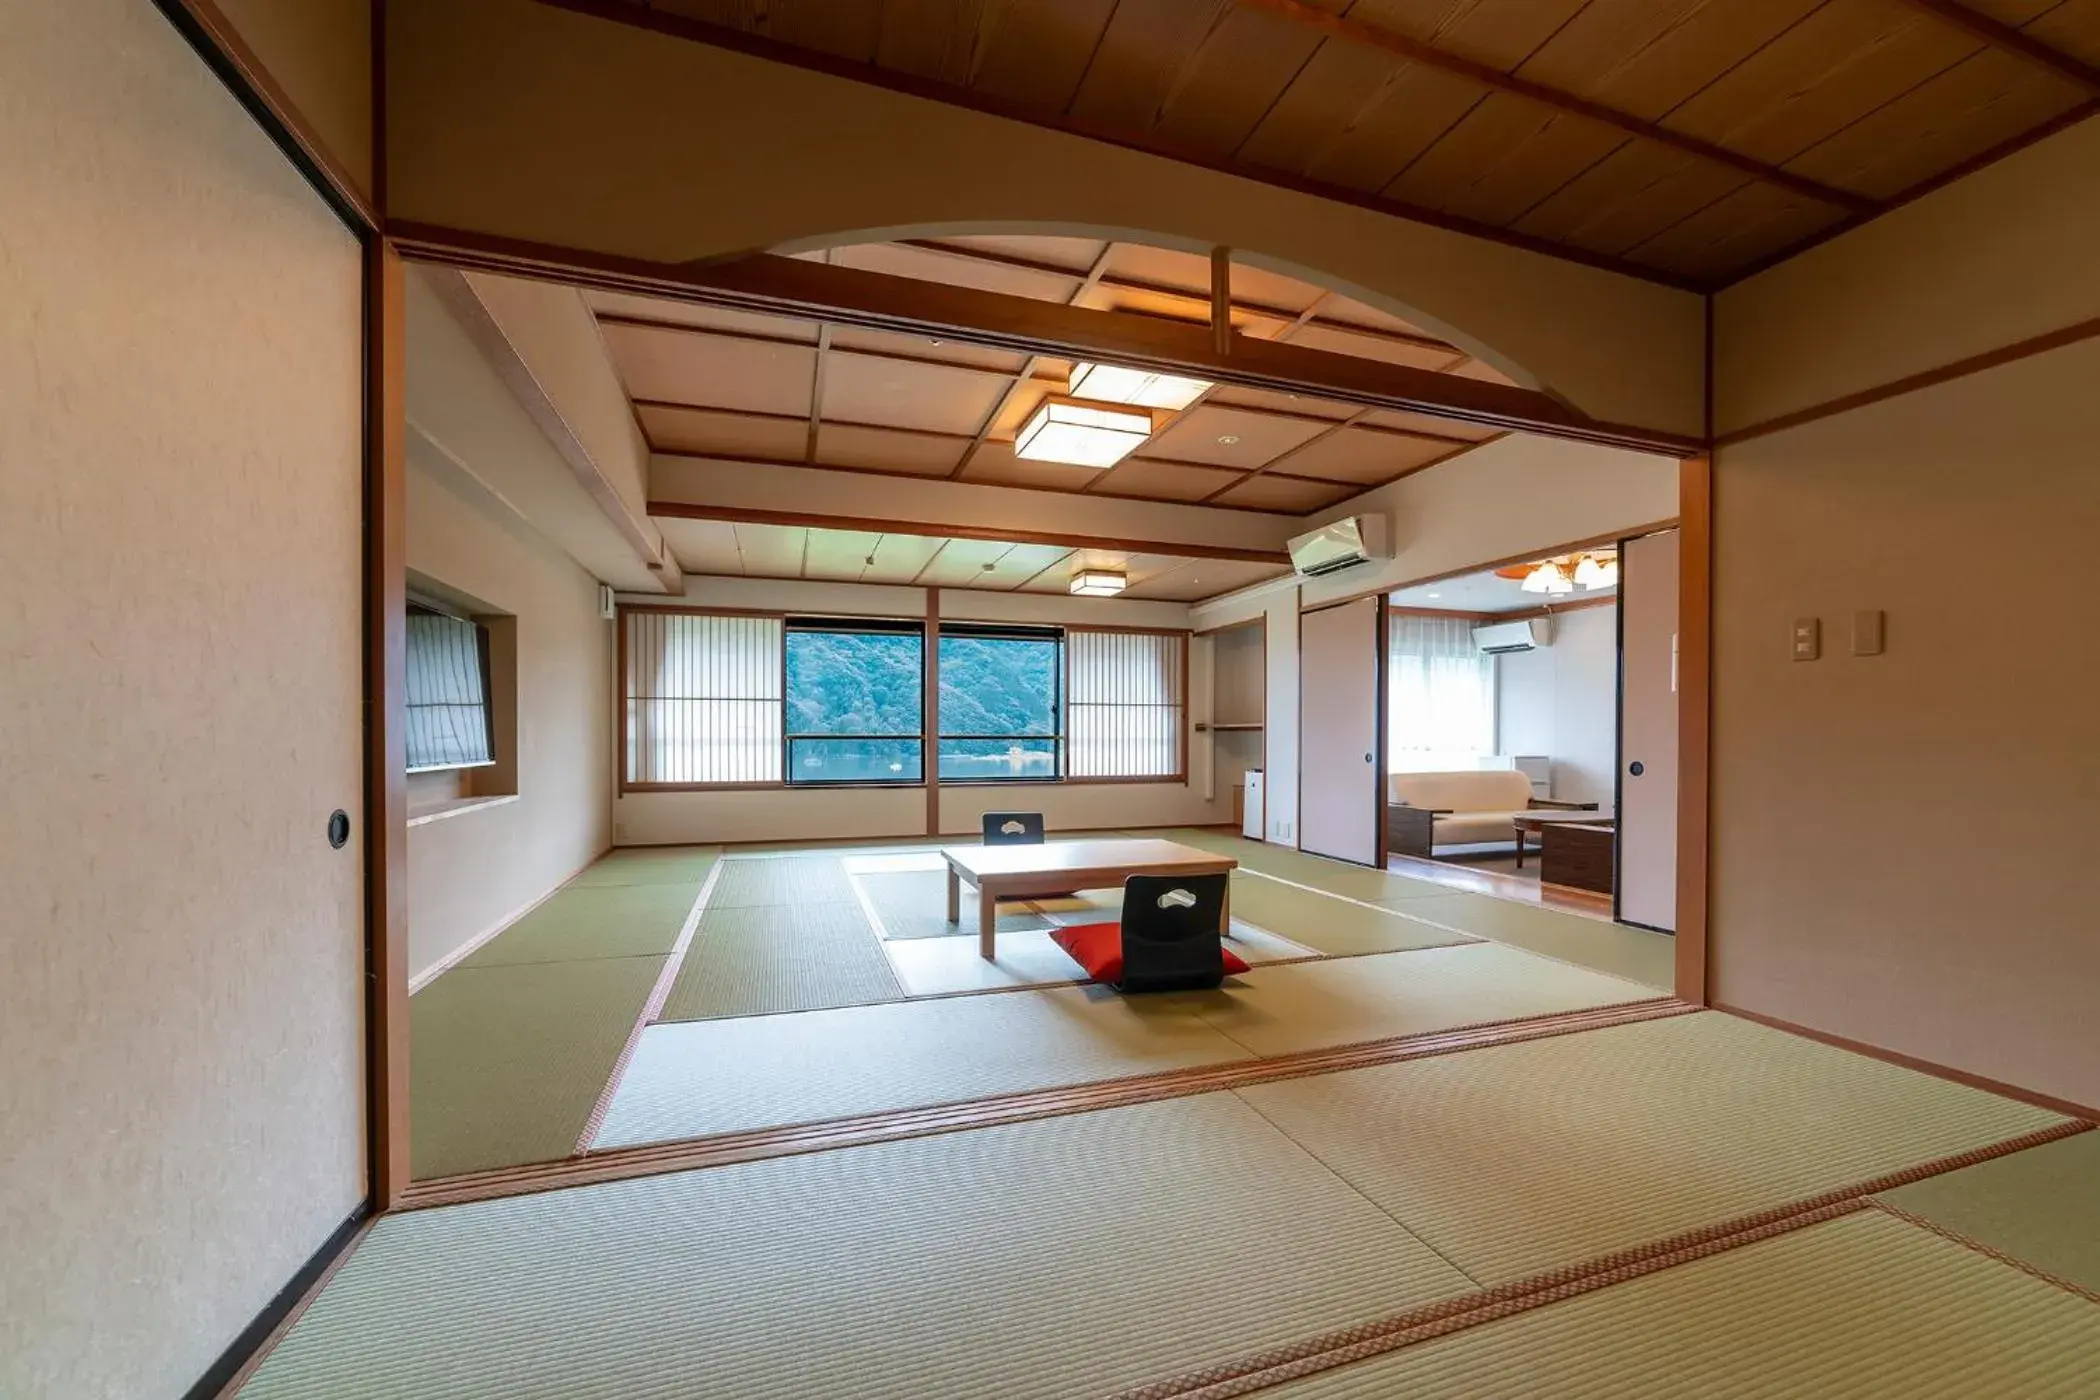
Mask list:
[[[802,254],[1128,315],[1210,319],[1210,260],[1071,237],[951,237]],[[1214,386],[1107,470],[1029,462],[1014,432],[1071,363],[979,346],[586,292],[651,451],[766,466],[1306,514],[1443,462],[1487,428]],[[1239,334],[1508,382],[1371,306],[1233,269]],[[693,565],[689,565],[693,567]]]

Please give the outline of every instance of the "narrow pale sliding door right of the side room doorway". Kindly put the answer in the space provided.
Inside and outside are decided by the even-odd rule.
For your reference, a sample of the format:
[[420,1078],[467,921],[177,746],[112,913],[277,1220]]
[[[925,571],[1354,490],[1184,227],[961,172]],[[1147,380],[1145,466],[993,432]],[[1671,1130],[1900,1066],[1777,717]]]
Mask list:
[[1619,550],[1619,917],[1678,926],[1678,531]]

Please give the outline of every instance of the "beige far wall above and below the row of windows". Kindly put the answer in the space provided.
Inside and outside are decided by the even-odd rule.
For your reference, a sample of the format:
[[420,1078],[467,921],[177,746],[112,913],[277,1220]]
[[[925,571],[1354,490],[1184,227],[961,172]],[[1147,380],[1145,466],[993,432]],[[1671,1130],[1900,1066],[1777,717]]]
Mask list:
[[[626,602],[662,604],[643,594]],[[844,613],[872,617],[924,617],[924,588],[867,584],[815,584],[722,579],[691,575],[689,607],[758,609],[792,613]],[[1094,623],[1121,628],[1186,628],[1189,609],[1138,598],[1071,598],[943,588],[941,617],[958,621]],[[1191,693],[1197,688],[1191,655]],[[1201,678],[1208,684],[1208,676]],[[1189,722],[1199,718],[1197,705]],[[941,831],[976,831],[993,808],[1044,812],[1052,831],[1109,827],[1174,827],[1231,819],[1231,791],[1205,796],[1210,751],[1197,735],[1189,743],[1184,783],[1014,783],[1000,787],[943,787]],[[622,793],[613,804],[613,840],[622,846],[676,846],[714,842],[777,842],[827,837],[926,835],[926,789],[762,789]]]

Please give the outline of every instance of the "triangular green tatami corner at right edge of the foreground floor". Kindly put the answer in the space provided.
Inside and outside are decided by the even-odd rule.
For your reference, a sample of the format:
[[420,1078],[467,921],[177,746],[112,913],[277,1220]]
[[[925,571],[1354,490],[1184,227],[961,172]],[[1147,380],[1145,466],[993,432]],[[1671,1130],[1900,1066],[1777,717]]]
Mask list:
[[2100,1131],[1913,1182],[1882,1199],[2100,1293]]

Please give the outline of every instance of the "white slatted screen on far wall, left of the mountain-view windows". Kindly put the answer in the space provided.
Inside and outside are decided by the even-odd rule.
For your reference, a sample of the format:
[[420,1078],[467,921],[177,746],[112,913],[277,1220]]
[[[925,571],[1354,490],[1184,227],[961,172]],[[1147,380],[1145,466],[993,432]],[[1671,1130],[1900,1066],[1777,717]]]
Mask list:
[[781,619],[628,613],[628,783],[781,781]]

